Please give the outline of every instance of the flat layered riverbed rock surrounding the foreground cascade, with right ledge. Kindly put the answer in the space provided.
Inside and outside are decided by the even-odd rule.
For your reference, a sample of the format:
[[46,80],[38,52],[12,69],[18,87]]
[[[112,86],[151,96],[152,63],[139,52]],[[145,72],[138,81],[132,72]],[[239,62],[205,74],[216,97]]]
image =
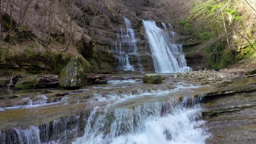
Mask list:
[[[116,77],[143,75],[112,74]],[[207,144],[255,143],[256,76],[253,73],[235,69],[200,70],[161,76],[161,84],[145,84],[141,79],[110,80],[108,84],[85,86],[61,96],[60,93],[68,90],[0,91],[0,143],[20,143],[18,136],[26,130],[39,131],[38,136],[34,136],[38,140],[32,136],[30,142],[71,143],[86,135],[90,113],[95,107],[109,107],[108,111],[116,111],[120,108],[136,109],[154,102],[171,101],[170,104],[174,104],[177,101],[188,108],[186,105],[193,106],[194,100],[201,103],[200,115],[195,115],[194,121],[204,121],[199,127],[205,132],[202,135]],[[193,98],[192,101],[189,98]],[[161,113],[165,110],[163,108]],[[110,131],[107,126],[104,133]],[[164,134],[175,141],[170,139],[171,132]]]

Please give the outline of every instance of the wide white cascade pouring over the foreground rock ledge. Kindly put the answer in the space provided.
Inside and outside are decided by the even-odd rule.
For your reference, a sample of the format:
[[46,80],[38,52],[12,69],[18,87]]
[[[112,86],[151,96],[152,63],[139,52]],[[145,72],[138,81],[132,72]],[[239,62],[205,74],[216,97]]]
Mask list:
[[194,97],[144,103],[134,108],[96,107],[85,134],[72,144],[204,144],[208,134]]

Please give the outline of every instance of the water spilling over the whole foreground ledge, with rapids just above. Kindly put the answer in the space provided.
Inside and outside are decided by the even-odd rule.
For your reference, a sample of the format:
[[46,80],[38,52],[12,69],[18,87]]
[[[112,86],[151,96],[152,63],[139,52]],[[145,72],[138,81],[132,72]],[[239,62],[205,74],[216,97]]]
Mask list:
[[[172,90],[95,93],[90,104],[104,102],[105,106],[95,107],[90,114],[80,112],[0,131],[0,144],[62,144],[75,138],[73,144],[204,144],[208,134],[202,129],[202,96],[170,97],[172,92],[197,87],[178,82]],[[31,100],[37,104],[48,98],[40,95]]]

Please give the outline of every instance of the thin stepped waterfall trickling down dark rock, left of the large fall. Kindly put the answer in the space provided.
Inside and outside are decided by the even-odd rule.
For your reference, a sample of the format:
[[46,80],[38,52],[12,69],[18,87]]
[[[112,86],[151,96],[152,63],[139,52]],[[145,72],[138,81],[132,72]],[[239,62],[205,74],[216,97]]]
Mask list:
[[117,39],[114,42],[111,50],[117,54],[118,64],[117,68],[120,70],[132,70],[134,71],[134,65],[131,64],[129,58],[131,56],[136,56],[138,61],[138,71],[143,71],[143,66],[141,63],[141,58],[137,50],[137,39],[135,37],[132,24],[128,18],[124,18],[126,24],[126,30],[120,28],[120,31],[117,31]]

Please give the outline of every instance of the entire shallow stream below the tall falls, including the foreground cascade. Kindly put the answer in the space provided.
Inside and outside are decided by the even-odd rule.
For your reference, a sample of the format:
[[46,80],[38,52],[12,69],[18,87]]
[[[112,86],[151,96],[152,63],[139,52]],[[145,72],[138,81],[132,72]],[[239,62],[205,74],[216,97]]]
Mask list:
[[62,97],[12,91],[0,106],[0,144],[204,144],[203,96],[194,92],[207,88],[166,79],[113,80]]

